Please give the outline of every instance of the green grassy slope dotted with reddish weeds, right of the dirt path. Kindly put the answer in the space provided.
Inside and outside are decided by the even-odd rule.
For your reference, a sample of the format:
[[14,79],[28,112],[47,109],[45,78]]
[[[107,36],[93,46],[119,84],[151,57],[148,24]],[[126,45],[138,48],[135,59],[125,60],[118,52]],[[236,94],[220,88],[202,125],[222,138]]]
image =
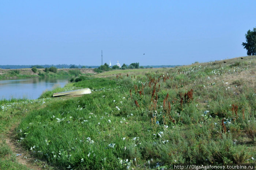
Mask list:
[[[17,138],[65,169],[255,163],[255,56],[226,62],[118,70],[69,84],[93,93],[48,99],[48,107],[22,119]],[[193,100],[186,102],[190,89]]]

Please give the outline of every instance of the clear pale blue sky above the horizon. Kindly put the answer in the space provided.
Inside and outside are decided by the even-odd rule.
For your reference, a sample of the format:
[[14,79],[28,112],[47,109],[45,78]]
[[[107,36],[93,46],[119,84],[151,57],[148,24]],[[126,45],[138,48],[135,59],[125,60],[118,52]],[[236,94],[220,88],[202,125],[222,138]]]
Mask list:
[[0,65],[221,60],[253,27],[255,0],[1,0]]

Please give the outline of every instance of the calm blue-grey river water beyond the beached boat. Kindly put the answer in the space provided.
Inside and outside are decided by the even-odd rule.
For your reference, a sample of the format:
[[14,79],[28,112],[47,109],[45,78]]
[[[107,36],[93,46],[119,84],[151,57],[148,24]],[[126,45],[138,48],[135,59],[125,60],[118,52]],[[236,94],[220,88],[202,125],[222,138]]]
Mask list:
[[1,99],[37,99],[45,90],[64,87],[68,77],[0,80]]

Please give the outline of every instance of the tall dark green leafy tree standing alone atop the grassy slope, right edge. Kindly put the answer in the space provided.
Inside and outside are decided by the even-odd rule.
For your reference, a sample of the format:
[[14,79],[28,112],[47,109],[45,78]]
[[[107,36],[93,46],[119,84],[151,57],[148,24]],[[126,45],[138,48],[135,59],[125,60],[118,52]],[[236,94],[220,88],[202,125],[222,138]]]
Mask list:
[[256,27],[253,28],[253,31],[248,30],[245,34],[246,43],[243,42],[242,46],[247,50],[248,56],[256,55]]

